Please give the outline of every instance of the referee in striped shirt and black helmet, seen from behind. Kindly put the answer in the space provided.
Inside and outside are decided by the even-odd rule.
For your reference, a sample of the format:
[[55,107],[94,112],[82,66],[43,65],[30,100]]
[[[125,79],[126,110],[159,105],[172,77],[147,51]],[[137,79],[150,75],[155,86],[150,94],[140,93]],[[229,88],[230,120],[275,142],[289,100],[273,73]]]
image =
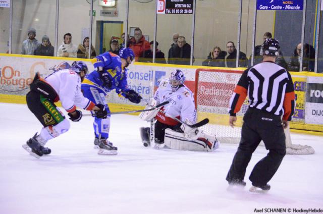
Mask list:
[[291,75],[275,64],[279,49],[277,39],[267,38],[263,42],[260,50],[262,62],[243,72],[230,99],[229,123],[234,127],[236,113],[246,96],[249,97],[249,108],[243,118],[241,141],[227,175],[229,185],[246,185],[246,168],[261,140],[269,150],[251,172],[250,191],[256,191],[256,188],[270,190],[271,186],[267,182],[273,178],[286,154],[283,129],[292,120],[295,93]]

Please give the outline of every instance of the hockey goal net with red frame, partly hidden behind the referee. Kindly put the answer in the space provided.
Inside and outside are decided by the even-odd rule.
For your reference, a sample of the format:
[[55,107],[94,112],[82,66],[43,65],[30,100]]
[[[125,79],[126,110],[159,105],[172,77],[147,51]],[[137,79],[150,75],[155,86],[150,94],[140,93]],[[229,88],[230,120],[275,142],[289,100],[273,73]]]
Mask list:
[[[248,109],[247,99],[237,114],[234,128],[229,126],[229,102],[243,71],[221,69],[197,69],[195,73],[195,102],[198,121],[204,118],[209,123],[200,127],[204,133],[215,134],[221,143],[239,143],[243,115]],[[289,130],[285,130],[289,154],[311,154],[310,146],[293,145]]]

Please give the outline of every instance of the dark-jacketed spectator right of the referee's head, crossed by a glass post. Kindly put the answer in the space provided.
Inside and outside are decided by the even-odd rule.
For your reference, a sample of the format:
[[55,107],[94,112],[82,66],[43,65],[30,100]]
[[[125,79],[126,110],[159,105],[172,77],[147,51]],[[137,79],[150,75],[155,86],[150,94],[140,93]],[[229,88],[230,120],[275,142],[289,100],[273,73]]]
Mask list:
[[[290,62],[288,63],[289,71],[299,71],[299,64],[301,60],[301,48],[302,43],[299,43],[293,52],[293,57],[291,57]],[[315,62],[315,48],[305,43],[303,49],[303,69],[302,71],[314,71],[314,62]]]

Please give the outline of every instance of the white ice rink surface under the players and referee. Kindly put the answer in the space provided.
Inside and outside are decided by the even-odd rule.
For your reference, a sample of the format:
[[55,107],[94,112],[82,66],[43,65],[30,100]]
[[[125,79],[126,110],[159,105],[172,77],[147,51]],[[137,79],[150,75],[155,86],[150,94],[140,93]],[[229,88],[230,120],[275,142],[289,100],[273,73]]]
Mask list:
[[[254,213],[265,208],[323,209],[323,137],[292,134],[313,155],[286,155],[266,194],[248,189],[248,176],[266,154],[254,152],[245,188],[225,180],[237,145],[211,153],[143,147],[137,116],[114,115],[110,140],[118,155],[93,149],[92,118],[71,122],[49,141],[52,153],[36,159],[22,147],[41,124],[26,105],[0,103],[0,213]],[[264,211],[263,211],[264,212]],[[272,212],[275,213],[275,212]],[[297,213],[297,212],[290,212]],[[300,213],[300,212],[298,212]]]

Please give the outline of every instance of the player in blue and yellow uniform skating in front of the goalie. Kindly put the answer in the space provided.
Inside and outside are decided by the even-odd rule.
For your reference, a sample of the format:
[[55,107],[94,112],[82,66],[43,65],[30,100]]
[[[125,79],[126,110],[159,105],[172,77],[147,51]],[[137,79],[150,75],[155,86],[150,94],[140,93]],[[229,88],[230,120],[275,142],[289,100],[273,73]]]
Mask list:
[[[85,97],[95,104],[105,105],[105,95],[116,90],[119,96],[124,96],[131,102],[139,103],[142,97],[134,90],[127,88],[127,69],[134,60],[134,53],[130,48],[122,48],[119,56],[112,52],[104,52],[92,60],[94,71],[88,74],[82,82],[81,89]],[[93,115],[94,123],[94,147],[99,148],[99,154],[117,154],[117,147],[107,140],[110,131],[110,116],[100,119]]]

